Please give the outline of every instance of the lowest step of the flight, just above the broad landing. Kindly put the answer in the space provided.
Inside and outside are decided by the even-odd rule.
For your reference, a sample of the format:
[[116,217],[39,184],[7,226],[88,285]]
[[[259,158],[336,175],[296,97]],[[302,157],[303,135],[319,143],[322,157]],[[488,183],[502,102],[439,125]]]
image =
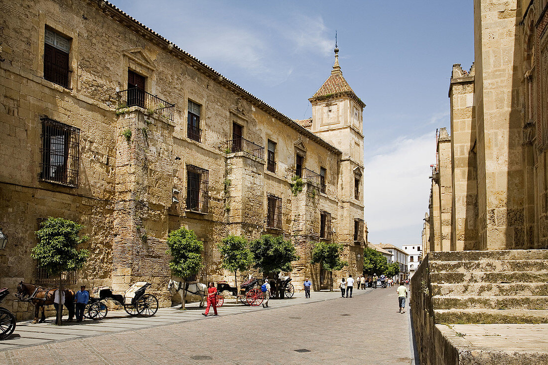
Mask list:
[[436,323],[548,323],[548,310],[434,310]]

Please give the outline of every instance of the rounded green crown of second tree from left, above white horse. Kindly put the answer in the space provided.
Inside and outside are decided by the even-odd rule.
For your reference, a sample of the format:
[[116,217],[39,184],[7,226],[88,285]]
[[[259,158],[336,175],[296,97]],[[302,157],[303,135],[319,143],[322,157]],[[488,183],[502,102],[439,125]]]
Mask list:
[[174,276],[185,278],[196,275],[202,269],[202,251],[204,245],[198,241],[196,233],[181,227],[169,232],[168,249],[166,253],[172,255],[169,268]]

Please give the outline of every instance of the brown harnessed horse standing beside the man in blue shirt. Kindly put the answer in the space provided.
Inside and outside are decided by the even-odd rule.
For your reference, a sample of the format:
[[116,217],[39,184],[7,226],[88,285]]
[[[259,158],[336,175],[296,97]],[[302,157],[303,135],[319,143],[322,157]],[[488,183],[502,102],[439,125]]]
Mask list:
[[[57,288],[44,289],[33,284],[20,282],[17,286],[17,294],[15,296],[20,300],[30,301],[35,306],[35,320],[32,323],[42,323],[45,321],[45,306],[52,305],[54,293]],[[65,306],[68,309],[68,321],[72,321],[74,317],[74,296],[75,293],[70,289],[65,289]],[[38,312],[42,308],[42,318],[38,321]]]

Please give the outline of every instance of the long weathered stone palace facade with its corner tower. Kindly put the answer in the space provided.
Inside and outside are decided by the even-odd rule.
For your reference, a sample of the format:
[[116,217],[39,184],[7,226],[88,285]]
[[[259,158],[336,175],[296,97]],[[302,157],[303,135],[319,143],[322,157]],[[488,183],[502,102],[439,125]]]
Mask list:
[[[204,243],[200,281],[231,280],[216,249],[230,234],[291,239],[292,276],[316,290],[362,272],[365,104],[338,49],[312,118],[295,121],[108,2],[2,2],[0,14],[0,287],[48,283],[30,258],[48,216],[90,237],[74,282],[149,281],[164,305],[165,240],[180,226]],[[344,244],[344,272],[310,265],[321,239]]]

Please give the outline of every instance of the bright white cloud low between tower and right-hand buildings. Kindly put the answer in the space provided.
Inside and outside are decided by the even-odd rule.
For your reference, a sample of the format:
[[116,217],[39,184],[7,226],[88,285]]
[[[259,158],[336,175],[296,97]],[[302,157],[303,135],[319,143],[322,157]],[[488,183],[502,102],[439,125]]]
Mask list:
[[389,242],[386,241],[389,239],[396,245],[420,243],[422,219],[430,196],[430,164],[436,156],[435,134],[398,138],[388,147],[390,152],[366,161],[369,241]]

